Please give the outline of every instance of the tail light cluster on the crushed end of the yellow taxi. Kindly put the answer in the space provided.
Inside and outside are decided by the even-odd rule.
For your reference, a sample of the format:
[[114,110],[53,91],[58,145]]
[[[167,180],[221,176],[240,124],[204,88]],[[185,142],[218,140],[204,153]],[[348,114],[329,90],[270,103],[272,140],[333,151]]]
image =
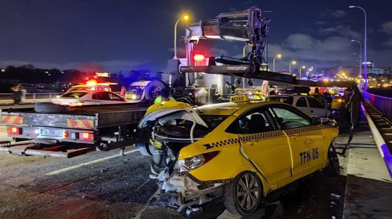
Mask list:
[[195,155],[193,157],[177,160],[176,164],[174,165],[174,170],[176,170],[177,173],[183,173],[196,169],[203,164],[209,162],[218,153],[219,151],[212,151],[209,153],[203,153],[200,155]]

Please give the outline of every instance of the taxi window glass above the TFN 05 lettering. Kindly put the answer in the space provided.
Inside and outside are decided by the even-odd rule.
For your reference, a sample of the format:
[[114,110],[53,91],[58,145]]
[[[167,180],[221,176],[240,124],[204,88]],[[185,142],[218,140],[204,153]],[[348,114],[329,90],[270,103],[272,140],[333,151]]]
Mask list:
[[272,107],[275,119],[281,124],[283,129],[293,129],[310,126],[310,119],[293,108]]

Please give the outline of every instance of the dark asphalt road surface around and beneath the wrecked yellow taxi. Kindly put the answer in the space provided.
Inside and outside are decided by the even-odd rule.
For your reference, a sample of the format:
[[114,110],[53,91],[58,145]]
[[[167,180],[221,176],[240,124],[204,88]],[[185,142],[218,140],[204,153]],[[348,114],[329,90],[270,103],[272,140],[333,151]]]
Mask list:
[[[0,217],[182,218],[153,197],[158,187],[149,179],[149,161],[134,149],[128,147],[125,156],[96,151],[68,160],[0,154]],[[331,200],[331,194],[343,200],[344,187],[345,176],[328,178],[319,171],[270,195],[272,204],[251,218],[339,218],[343,201]],[[221,200],[203,208],[193,217],[235,218]]]

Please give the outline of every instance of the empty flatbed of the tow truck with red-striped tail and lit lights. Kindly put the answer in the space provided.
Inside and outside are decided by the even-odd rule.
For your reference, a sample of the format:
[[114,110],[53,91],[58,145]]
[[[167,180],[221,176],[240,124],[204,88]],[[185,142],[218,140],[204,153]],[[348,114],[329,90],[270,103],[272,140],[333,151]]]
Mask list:
[[136,142],[146,110],[137,104],[80,106],[67,113],[3,109],[0,124],[15,141],[0,142],[0,152],[72,158],[97,149],[124,149]]

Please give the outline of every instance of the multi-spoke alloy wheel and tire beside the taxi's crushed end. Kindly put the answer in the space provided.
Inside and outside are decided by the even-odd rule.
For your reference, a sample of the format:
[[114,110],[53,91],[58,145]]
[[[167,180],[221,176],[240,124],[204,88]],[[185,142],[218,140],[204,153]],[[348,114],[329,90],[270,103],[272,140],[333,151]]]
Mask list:
[[240,173],[225,185],[226,209],[237,215],[253,214],[260,205],[262,188],[261,180],[255,173],[249,171]]

